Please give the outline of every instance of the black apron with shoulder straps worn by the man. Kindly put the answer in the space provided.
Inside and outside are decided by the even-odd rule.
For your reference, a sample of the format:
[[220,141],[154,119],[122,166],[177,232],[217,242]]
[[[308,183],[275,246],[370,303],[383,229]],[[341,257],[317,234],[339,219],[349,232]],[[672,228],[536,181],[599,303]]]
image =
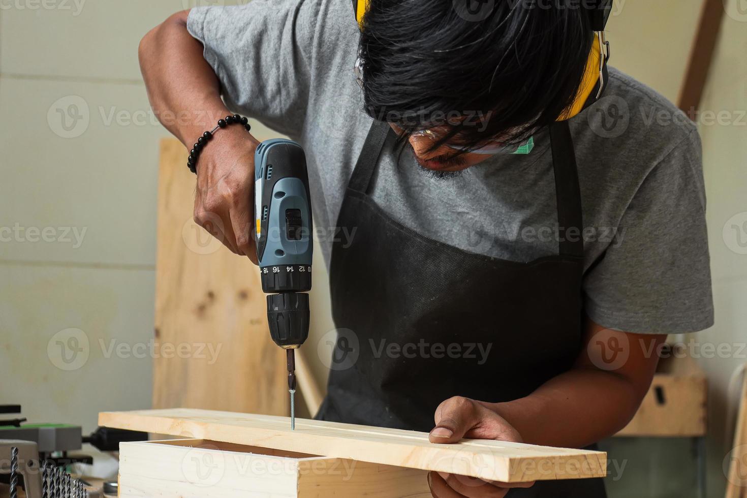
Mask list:
[[[382,211],[371,179],[382,150],[396,154],[395,137],[387,123],[373,123],[338,217],[338,231],[354,236],[336,237],[332,248],[341,332],[317,418],[430,432],[436,407],[451,396],[507,402],[571,367],[583,331],[581,197],[568,123],[550,135],[558,225],[579,236],[560,237],[559,255],[524,264],[432,240]],[[508,494],[605,496],[601,479]]]

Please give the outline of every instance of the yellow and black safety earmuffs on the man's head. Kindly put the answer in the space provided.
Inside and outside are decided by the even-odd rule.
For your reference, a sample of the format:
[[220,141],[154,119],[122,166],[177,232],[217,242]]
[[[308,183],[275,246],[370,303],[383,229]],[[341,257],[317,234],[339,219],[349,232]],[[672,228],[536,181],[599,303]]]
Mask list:
[[[363,27],[368,4],[371,0],[353,0],[353,9],[360,28]],[[585,108],[596,102],[607,86],[607,60],[610,60],[610,42],[604,37],[604,28],[610,19],[614,0],[595,0],[593,8],[589,9],[592,31],[598,43],[592,46],[592,52],[586,61],[586,71],[578,89],[576,99],[570,108],[558,118],[558,121],[571,119]]]

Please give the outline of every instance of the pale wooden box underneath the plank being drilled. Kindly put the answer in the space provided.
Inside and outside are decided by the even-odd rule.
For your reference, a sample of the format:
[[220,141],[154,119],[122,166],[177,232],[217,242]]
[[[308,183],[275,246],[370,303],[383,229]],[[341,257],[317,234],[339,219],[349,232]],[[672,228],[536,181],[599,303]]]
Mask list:
[[120,445],[120,498],[427,498],[427,472],[203,440]]

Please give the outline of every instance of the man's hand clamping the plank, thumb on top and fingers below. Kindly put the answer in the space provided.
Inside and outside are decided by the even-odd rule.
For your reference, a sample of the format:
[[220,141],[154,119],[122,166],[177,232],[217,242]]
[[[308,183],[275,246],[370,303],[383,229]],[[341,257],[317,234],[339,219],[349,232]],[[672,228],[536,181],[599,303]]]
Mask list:
[[[431,443],[458,443],[462,438],[494,439],[521,443],[521,435],[490,408],[489,403],[456,396],[436,408],[436,428]],[[533,482],[506,484],[486,482],[474,477],[431,472],[430,492],[436,498],[503,498],[510,488],[530,488]]]

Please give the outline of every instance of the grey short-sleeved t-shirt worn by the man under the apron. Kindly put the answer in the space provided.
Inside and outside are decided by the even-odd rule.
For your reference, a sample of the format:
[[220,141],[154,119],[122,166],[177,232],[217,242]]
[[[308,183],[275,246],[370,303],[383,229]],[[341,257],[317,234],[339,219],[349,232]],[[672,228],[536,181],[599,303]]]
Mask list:
[[[353,74],[359,32],[350,1],[200,7],[190,12],[187,25],[204,43],[229,108],[306,149],[314,225],[329,264],[329,234],[372,122],[362,112]],[[625,332],[711,326],[695,126],[616,69],[610,69],[605,96],[570,126],[583,198],[586,314]],[[533,137],[528,154],[495,155],[447,180],[422,172],[409,148],[387,155],[372,196],[403,225],[495,258],[554,255],[559,237],[574,236],[557,227],[547,131]]]

